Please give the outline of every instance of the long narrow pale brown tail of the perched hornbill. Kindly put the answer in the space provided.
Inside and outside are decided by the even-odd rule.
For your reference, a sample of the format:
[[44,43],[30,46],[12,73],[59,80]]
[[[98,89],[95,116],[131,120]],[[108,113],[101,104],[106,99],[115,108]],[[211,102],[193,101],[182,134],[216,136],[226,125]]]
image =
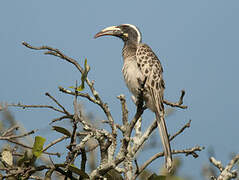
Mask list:
[[172,153],[171,153],[171,146],[169,143],[168,131],[164,120],[164,115],[156,114],[157,124],[159,128],[159,134],[162,140],[164,155],[165,155],[165,165],[167,170],[170,172],[172,170]]

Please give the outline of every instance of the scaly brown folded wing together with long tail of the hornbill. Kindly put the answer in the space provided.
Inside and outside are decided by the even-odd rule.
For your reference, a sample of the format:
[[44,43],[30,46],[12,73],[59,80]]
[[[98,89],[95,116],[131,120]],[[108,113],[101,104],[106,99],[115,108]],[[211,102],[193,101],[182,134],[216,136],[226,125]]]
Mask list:
[[157,56],[152,49],[146,44],[140,44],[136,52],[137,65],[141,70],[144,77],[146,77],[145,88],[150,95],[152,111],[155,112],[160,136],[165,153],[166,167],[168,170],[172,167],[171,147],[169,143],[168,132],[164,120],[164,81],[163,81],[163,68]]

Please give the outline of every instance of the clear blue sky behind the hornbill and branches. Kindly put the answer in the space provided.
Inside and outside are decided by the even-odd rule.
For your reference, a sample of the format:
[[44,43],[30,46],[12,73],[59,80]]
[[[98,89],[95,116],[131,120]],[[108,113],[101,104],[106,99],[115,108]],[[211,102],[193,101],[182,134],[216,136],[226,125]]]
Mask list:
[[[58,92],[57,86],[73,85],[80,74],[69,63],[23,47],[21,42],[26,41],[56,47],[82,64],[88,58],[89,78],[95,80],[97,90],[119,121],[116,96],[123,93],[130,101],[121,75],[123,43],[111,37],[95,40],[93,36],[107,26],[135,24],[143,42],[161,59],[165,98],[176,101],[180,90],[186,90],[185,104],[189,108],[177,110],[167,124],[173,134],[192,119],[192,127],[172,147],[206,147],[198,159],[185,158],[180,173],[200,179],[209,147],[223,163],[228,162],[231,152],[239,150],[238,17],[236,0],[1,1],[0,102],[47,104],[51,102],[44,93],[50,92],[72,107],[72,98]],[[105,118],[97,106],[84,103],[88,111]],[[129,108],[132,116],[132,103]],[[39,128],[39,133],[55,117],[55,113],[44,110],[12,110],[28,130]],[[151,114],[147,112],[144,119],[150,121]],[[158,163],[162,159],[155,165]]]

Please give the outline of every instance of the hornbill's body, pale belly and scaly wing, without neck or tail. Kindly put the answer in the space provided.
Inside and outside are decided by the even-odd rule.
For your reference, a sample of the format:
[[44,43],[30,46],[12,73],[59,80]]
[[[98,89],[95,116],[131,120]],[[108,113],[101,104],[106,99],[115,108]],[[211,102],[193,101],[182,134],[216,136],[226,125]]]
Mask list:
[[[122,71],[127,87],[136,98],[139,94],[140,82],[143,82],[146,78],[144,92],[146,106],[153,112],[156,112],[156,104],[159,103],[160,111],[163,111],[163,69],[157,56],[149,46],[139,44],[136,56],[127,57],[124,60]],[[152,99],[153,97],[157,99]],[[156,104],[155,100],[157,101]]]

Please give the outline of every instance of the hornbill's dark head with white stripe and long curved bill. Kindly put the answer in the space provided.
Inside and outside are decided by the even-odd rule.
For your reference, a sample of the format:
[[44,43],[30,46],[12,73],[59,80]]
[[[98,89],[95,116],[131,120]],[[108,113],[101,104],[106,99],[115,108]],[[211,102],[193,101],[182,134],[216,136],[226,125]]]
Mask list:
[[95,38],[100,36],[116,36],[121,38],[124,42],[140,43],[141,33],[139,29],[132,24],[121,24],[119,26],[107,27],[95,35]]

